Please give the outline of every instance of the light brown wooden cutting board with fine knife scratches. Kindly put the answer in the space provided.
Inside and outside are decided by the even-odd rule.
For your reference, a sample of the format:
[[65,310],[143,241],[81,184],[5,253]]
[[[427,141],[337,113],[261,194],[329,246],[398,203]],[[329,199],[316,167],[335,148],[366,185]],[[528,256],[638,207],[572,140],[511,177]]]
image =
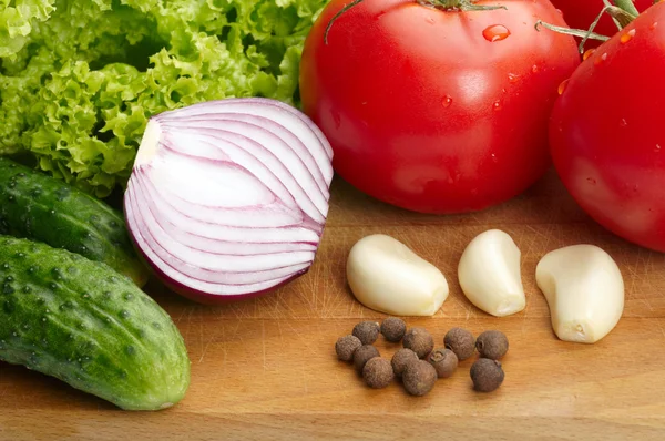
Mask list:
[[[522,249],[526,309],[492,318],[461,294],[457,264],[477,234],[501,228]],[[505,382],[471,389],[469,367],[426,397],[399,383],[364,386],[336,359],[334,345],[361,319],[381,319],[346,286],[356,240],[385,233],[447,276],[451,293],[431,318],[407,319],[442,343],[454,326],[501,329],[510,339]],[[535,287],[540,257],[590,243],[620,264],[624,317],[594,345],[559,341]],[[329,221],[311,270],[265,297],[200,306],[151,283],[147,293],[173,316],[192,360],[192,384],[176,407],[125,412],[66,384],[0,363],[0,440],[223,439],[665,439],[665,256],[632,246],[594,224],[553,173],[526,194],[483,213],[429,216],[378,203],[336,180]],[[379,340],[391,356],[395,345]]]

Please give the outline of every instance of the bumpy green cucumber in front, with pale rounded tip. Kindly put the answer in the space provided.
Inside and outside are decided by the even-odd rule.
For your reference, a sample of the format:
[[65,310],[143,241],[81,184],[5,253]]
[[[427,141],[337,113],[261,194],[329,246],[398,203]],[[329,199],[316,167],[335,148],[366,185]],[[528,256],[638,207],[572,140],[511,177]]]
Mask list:
[[126,410],[178,402],[190,359],[171,317],[108,265],[0,236],[0,360]]

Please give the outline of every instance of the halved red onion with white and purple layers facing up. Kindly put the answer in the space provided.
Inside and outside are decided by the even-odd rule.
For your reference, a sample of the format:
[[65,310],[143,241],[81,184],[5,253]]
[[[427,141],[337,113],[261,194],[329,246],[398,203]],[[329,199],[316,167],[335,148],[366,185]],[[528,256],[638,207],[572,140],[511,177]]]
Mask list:
[[328,215],[332,151],[303,113],[228,99],[150,120],[125,193],[134,243],[202,302],[260,295],[305,274]]

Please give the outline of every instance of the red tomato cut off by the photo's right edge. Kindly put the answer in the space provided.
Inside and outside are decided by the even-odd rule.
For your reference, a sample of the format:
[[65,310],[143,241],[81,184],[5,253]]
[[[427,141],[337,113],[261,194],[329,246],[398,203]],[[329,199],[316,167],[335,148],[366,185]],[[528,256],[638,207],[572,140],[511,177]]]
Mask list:
[[554,165],[580,205],[617,235],[662,252],[664,41],[665,3],[659,3],[575,71],[550,126]]

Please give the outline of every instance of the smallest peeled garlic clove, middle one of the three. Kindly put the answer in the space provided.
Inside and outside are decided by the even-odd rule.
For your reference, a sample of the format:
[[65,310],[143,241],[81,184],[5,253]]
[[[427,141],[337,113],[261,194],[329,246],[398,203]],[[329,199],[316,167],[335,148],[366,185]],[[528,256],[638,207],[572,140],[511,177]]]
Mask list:
[[523,310],[526,297],[520,258],[520,248],[500,229],[471,240],[458,266],[460,286],[469,301],[495,317]]

